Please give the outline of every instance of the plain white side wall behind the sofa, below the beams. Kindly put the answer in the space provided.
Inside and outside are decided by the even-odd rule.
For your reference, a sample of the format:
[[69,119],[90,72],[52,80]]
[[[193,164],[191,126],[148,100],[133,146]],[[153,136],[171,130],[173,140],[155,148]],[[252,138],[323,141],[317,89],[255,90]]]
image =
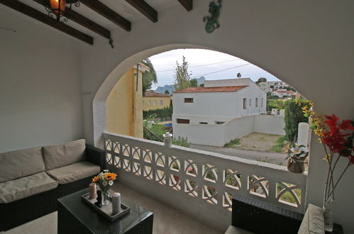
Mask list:
[[0,152],[83,138],[79,42],[1,4],[0,22]]

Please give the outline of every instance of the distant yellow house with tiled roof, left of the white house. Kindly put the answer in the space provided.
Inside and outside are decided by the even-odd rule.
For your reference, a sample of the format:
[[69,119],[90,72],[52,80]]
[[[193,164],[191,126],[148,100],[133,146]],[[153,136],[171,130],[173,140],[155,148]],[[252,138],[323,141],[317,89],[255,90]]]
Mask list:
[[155,91],[147,90],[143,96],[143,110],[155,110],[169,107],[171,105],[171,95],[160,94]]

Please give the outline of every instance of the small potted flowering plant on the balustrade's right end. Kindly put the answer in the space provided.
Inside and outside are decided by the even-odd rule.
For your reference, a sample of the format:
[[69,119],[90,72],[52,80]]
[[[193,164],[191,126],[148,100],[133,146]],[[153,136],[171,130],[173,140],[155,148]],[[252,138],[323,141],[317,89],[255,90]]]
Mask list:
[[302,173],[305,170],[304,161],[309,155],[309,149],[305,145],[294,144],[294,147],[290,147],[287,159],[287,169],[290,172]]

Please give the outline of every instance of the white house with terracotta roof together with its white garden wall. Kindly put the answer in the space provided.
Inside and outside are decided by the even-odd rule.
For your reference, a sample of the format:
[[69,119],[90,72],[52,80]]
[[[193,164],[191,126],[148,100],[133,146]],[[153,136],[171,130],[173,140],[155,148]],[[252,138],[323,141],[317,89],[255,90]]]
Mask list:
[[267,94],[249,78],[206,81],[173,94],[174,137],[223,146],[253,132],[284,135],[284,119],[266,116]]

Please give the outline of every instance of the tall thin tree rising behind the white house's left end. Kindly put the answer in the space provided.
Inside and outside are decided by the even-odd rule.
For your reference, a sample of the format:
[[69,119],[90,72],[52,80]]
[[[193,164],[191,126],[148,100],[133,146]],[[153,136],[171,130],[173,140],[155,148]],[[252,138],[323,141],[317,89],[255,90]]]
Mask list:
[[176,61],[174,84],[175,91],[190,87],[191,76],[192,74],[188,72],[188,62],[183,56],[181,65],[179,65],[178,61]]

